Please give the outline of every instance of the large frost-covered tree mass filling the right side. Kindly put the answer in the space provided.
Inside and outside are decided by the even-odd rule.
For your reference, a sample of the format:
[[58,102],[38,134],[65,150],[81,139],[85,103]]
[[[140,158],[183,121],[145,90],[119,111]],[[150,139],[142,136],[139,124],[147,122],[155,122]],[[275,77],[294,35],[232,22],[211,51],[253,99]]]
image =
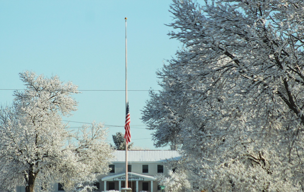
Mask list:
[[302,191],[304,3],[174,0],[184,47],[143,121],[208,191]]

